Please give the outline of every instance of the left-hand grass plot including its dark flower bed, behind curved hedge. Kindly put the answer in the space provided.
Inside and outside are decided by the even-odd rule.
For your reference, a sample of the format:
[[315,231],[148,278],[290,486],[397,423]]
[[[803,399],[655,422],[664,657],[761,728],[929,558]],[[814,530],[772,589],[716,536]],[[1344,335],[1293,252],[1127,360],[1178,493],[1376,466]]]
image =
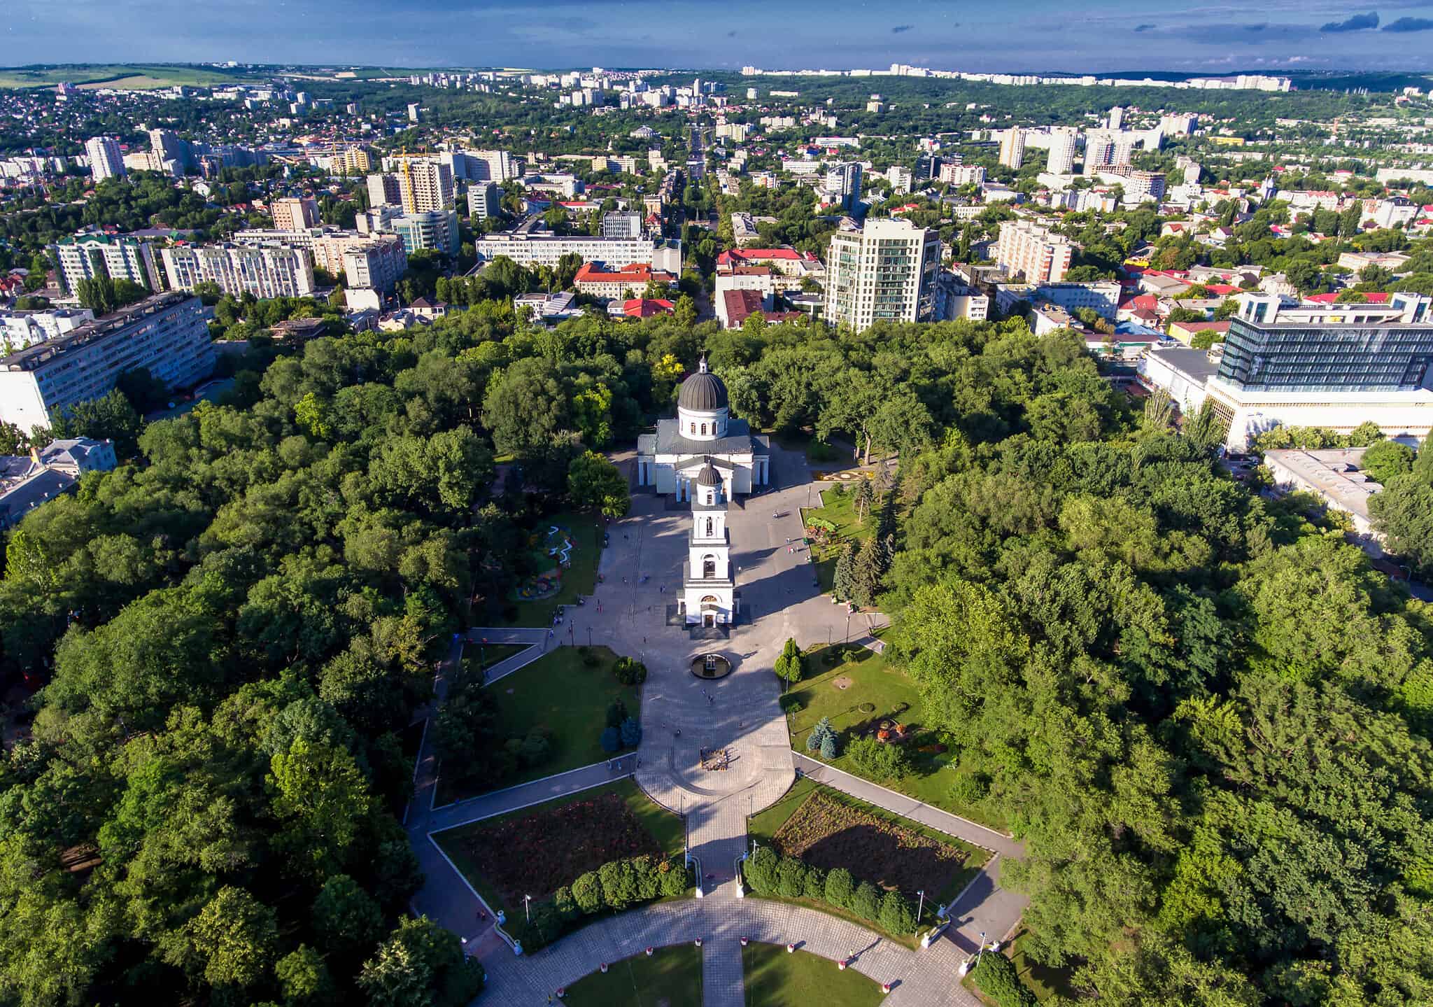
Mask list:
[[653,804],[632,779],[433,835],[469,884],[514,925],[522,920],[523,895],[550,894],[619,857],[678,855],[685,838],[682,819]]

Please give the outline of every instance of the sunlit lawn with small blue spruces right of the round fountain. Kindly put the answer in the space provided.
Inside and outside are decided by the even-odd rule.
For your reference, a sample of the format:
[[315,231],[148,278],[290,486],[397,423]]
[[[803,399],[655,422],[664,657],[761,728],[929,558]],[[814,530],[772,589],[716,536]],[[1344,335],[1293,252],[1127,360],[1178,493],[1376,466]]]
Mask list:
[[[903,669],[856,645],[818,647],[805,656],[805,668],[807,678],[782,696],[791,710],[787,713],[791,748],[813,755],[805,748],[807,735],[823,716],[828,716],[841,736],[841,755],[831,765],[860,776],[844,753],[851,732],[863,731],[883,718],[900,721],[917,735],[909,745],[913,771],[894,781],[874,782],[941,811],[992,828],[1005,828],[1005,821],[984,804],[962,802],[952,796],[956,775],[964,772],[959,752],[943,751],[943,743],[934,733],[921,736],[926,728],[924,702]],[[801,709],[797,710],[794,703],[800,703]]]

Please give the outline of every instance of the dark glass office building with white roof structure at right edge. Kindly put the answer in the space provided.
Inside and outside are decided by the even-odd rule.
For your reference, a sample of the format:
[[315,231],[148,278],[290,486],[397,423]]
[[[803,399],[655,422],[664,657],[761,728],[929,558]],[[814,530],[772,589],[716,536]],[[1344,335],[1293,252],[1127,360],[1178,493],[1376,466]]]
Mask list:
[[1245,391],[1400,391],[1424,385],[1433,362],[1429,298],[1387,305],[1294,307],[1241,298],[1218,380]]

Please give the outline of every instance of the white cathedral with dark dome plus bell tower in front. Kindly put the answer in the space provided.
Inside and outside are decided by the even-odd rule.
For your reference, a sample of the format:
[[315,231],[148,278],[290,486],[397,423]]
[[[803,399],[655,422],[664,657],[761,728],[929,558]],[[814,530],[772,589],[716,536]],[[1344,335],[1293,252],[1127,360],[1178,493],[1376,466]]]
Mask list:
[[692,531],[682,577],[688,626],[737,620],[737,582],[731,569],[727,504],[771,480],[771,444],[745,420],[732,420],[727,385],[706,370],[706,358],[682,382],[676,418],[636,443],[638,486],[652,486],[692,507]]

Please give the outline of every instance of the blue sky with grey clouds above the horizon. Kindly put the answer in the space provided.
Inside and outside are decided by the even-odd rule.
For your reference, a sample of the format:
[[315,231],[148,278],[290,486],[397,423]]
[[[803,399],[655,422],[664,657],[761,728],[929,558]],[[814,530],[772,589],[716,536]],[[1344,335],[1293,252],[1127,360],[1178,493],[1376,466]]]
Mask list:
[[6,0],[6,9],[3,64],[1433,70],[1433,0]]

